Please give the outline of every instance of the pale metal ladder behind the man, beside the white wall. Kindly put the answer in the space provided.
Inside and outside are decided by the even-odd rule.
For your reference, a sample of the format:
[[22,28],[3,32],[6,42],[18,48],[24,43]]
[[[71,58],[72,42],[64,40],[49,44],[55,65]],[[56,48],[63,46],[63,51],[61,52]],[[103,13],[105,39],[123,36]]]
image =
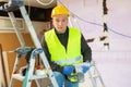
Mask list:
[[[71,16],[69,17],[69,25],[72,27],[76,26],[81,30],[78,17],[74,14],[71,14]],[[94,60],[90,63],[88,66],[90,71],[87,72],[87,74],[92,83],[91,87],[99,87],[99,85],[100,87],[106,87]]]

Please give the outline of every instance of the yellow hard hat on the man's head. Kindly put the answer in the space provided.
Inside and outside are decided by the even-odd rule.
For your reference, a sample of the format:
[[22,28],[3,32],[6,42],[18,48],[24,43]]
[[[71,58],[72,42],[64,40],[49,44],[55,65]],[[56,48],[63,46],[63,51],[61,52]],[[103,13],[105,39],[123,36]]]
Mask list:
[[55,15],[59,15],[59,14],[66,14],[68,16],[70,15],[68,9],[62,5],[57,5],[52,9],[51,17],[53,17]]

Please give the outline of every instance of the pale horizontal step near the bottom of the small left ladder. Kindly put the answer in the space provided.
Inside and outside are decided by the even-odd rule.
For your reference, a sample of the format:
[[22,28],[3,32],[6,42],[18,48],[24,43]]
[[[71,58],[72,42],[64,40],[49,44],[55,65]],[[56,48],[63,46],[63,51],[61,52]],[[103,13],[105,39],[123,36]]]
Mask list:
[[[13,78],[19,79],[19,80],[23,80],[25,76],[22,76],[21,74],[13,74],[12,75]],[[29,79],[40,79],[40,78],[47,78],[47,75],[33,75]]]

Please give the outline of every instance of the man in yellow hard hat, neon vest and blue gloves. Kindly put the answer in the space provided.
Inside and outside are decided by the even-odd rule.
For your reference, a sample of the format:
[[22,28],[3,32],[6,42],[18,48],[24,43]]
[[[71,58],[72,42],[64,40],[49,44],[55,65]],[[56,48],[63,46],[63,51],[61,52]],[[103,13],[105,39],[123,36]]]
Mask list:
[[[62,5],[52,9],[55,28],[45,33],[41,45],[59,87],[79,87],[73,64],[92,61],[92,50],[81,32],[68,26],[69,16]],[[82,69],[84,73],[87,71],[86,66]]]

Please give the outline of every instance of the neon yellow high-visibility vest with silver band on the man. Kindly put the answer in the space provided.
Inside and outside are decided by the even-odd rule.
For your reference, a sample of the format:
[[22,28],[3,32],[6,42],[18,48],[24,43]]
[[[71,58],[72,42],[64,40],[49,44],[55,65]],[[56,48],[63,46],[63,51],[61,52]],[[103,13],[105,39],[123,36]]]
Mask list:
[[67,50],[58,39],[55,29],[45,34],[45,40],[50,52],[51,61],[64,66],[82,62],[81,59],[81,33],[78,28],[69,28]]

